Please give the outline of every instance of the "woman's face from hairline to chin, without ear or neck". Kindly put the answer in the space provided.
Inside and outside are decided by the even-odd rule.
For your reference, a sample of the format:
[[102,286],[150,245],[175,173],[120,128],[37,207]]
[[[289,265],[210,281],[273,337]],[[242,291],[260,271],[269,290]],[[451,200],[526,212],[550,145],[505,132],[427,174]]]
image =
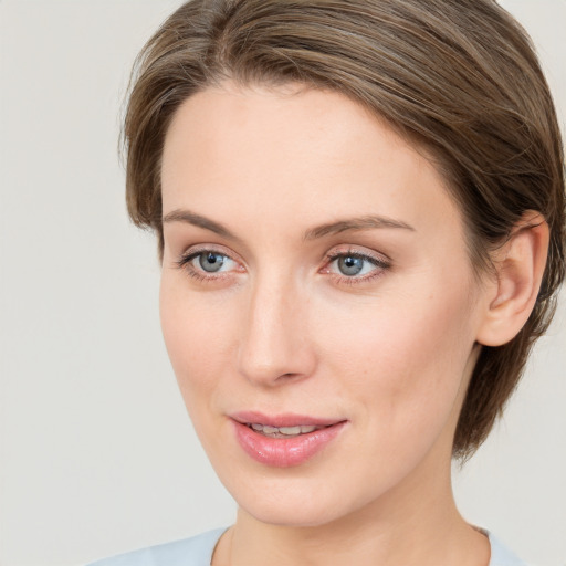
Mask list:
[[240,507],[319,525],[444,490],[486,298],[422,153],[337,93],[227,83],[176,114],[163,202],[165,342]]

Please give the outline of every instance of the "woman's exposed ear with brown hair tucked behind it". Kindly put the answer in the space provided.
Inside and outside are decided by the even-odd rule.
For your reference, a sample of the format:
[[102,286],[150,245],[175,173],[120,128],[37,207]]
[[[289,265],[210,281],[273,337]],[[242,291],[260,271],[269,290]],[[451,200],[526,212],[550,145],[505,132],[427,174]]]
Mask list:
[[547,253],[548,224],[530,210],[492,254],[495,277],[486,284],[486,310],[476,342],[502,346],[518,334],[535,305]]

